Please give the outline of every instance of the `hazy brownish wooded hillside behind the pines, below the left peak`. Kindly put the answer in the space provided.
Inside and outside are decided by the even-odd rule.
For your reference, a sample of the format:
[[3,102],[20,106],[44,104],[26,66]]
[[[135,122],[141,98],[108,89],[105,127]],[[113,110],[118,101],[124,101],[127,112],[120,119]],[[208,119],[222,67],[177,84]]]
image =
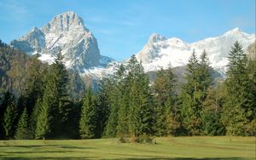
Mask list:
[[[33,56],[25,54],[0,40],[0,92],[9,91],[19,96],[25,89],[28,68],[32,66]],[[38,61],[43,69],[49,65]],[[69,94],[80,99],[85,90],[84,80],[78,71],[69,70]]]

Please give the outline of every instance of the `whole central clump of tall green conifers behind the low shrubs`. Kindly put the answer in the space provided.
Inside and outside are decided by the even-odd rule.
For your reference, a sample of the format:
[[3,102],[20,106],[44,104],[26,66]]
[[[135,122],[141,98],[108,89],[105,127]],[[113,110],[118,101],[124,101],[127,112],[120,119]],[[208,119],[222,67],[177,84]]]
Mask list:
[[109,117],[107,137],[154,134],[153,103],[149,79],[133,55],[128,66],[119,66],[112,79],[108,79]]

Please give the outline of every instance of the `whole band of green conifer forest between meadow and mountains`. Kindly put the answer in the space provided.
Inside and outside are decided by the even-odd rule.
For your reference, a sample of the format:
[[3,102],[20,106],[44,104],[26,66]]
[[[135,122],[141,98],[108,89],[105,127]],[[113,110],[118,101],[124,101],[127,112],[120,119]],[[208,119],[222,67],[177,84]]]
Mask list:
[[[222,83],[204,51],[189,58],[185,83],[172,68],[157,71],[150,83],[135,55],[105,77],[84,99],[70,97],[68,71],[61,54],[54,64],[32,60],[18,98],[0,99],[1,139],[91,139],[101,137],[255,135],[256,65],[241,44],[230,49]],[[181,88],[177,92],[177,87]],[[73,90],[73,92],[75,92]]]

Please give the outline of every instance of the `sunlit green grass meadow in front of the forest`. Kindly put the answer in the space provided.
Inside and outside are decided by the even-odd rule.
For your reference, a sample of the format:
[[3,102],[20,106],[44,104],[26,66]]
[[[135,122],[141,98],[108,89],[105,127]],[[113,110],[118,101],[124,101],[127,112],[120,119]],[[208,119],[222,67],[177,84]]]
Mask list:
[[101,140],[0,140],[0,159],[255,159],[255,137],[165,137],[156,145]]

